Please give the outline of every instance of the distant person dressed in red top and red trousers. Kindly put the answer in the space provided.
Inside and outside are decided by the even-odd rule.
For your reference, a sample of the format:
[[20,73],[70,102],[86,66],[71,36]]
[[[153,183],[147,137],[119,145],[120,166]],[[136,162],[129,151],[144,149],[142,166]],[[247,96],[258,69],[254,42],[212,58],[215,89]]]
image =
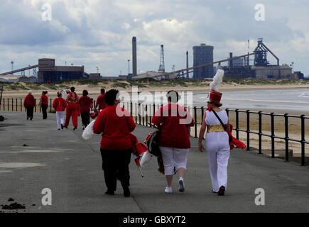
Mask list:
[[70,118],[72,116],[73,130],[77,129],[77,109],[78,109],[78,96],[75,92],[75,87],[71,87],[71,92],[67,94],[67,116],[65,118],[65,125],[63,127],[67,128],[70,123]]

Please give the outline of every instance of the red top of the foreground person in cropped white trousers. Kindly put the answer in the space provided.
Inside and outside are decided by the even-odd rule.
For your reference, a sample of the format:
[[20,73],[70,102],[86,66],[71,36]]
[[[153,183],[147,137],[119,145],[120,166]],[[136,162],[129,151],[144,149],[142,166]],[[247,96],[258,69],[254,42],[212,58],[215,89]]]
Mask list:
[[162,106],[153,116],[152,123],[161,128],[160,146],[190,148],[187,126],[194,126],[194,121],[191,114],[183,106],[178,104]]

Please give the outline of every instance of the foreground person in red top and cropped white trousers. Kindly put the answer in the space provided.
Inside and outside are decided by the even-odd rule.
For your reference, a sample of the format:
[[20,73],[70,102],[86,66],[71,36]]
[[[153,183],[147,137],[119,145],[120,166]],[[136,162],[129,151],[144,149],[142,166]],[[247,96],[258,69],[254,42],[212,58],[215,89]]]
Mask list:
[[168,104],[162,106],[153,116],[152,123],[161,128],[159,146],[166,175],[166,193],[172,193],[173,174],[178,172],[178,190],[184,192],[183,177],[187,167],[187,156],[190,150],[190,127],[194,126],[190,113],[177,104],[178,92],[167,94]]

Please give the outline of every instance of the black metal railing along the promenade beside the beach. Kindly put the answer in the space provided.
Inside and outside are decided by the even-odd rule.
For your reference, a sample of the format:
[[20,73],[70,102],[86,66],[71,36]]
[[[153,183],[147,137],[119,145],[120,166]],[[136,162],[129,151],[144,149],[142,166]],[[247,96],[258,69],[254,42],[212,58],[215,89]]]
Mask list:
[[[37,101],[37,100],[36,100]],[[53,99],[50,99],[50,113],[53,112]],[[36,104],[38,106],[38,103]],[[95,106],[95,101],[94,101]],[[131,116],[134,118],[137,124],[142,126],[151,126],[152,116],[158,110],[162,104],[141,104],[141,103],[122,103],[122,106],[130,111]],[[197,129],[198,126],[202,125],[202,119],[205,113],[205,107],[186,107],[186,109],[193,114],[193,118],[195,119],[194,124],[194,137],[197,138]],[[26,111],[23,107],[23,99],[2,99],[0,110],[2,111]],[[41,108],[37,109],[35,107],[35,112],[41,112]],[[289,161],[289,143],[291,141],[300,143],[301,149],[301,165],[305,165],[305,145],[309,144],[309,141],[305,140],[305,119],[309,119],[309,116],[305,115],[291,115],[291,114],[275,114],[275,113],[264,113],[263,111],[250,111],[250,110],[239,110],[239,109],[226,109],[227,114],[234,112],[235,116],[233,119],[229,119],[229,121],[234,121],[236,127],[234,128],[234,133],[236,134],[236,138],[239,139],[239,132],[246,133],[246,149],[250,150],[250,135],[255,134],[259,136],[259,154],[262,153],[262,138],[267,137],[271,138],[271,157],[275,157],[275,139],[283,140],[285,142],[285,160]],[[200,113],[199,113],[200,112]],[[239,114],[243,113],[246,115],[246,126],[244,128],[239,128]],[[259,130],[252,131],[250,128],[250,119],[252,115],[257,115],[259,118]],[[269,116],[271,122],[271,130],[270,134],[264,133],[262,130],[263,121],[262,116]],[[284,137],[276,135],[275,132],[275,118],[284,118],[282,123],[284,124]],[[299,118],[300,119],[300,139],[290,138],[289,137],[289,119],[291,118]]]

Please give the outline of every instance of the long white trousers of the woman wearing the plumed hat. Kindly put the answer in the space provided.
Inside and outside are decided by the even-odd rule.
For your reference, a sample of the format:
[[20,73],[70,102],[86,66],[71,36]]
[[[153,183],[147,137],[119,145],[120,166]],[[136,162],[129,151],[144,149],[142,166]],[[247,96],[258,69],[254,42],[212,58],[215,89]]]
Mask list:
[[219,191],[221,186],[227,188],[227,165],[229,162],[229,136],[225,132],[207,133],[206,151],[212,179],[212,190]]

